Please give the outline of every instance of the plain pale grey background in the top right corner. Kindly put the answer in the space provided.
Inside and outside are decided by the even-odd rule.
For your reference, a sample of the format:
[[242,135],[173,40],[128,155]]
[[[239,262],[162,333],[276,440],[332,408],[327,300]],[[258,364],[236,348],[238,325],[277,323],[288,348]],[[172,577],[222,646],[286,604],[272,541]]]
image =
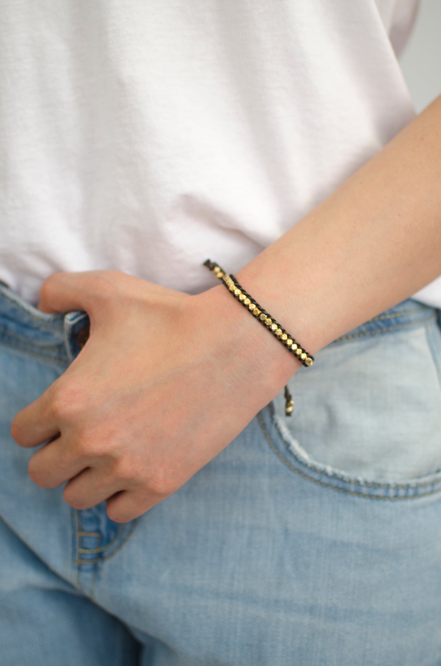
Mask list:
[[441,0],[420,0],[400,65],[420,113],[441,94]]

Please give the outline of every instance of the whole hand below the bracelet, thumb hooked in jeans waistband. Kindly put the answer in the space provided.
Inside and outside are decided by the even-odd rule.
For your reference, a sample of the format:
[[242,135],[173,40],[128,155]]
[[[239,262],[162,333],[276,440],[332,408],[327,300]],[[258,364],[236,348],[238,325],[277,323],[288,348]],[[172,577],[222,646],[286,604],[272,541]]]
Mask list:
[[117,271],[59,272],[39,308],[85,310],[89,340],[11,435],[51,439],[29,462],[38,486],[67,482],[75,509],[107,500],[117,522],[178,490],[300,366],[221,284],[189,296]]

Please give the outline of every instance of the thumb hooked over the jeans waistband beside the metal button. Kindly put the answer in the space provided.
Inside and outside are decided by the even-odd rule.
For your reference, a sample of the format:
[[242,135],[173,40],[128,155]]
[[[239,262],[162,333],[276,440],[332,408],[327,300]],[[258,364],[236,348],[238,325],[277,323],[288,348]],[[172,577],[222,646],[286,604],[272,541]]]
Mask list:
[[114,290],[111,271],[53,273],[41,285],[39,309],[43,312],[89,312],[94,299],[109,290]]

